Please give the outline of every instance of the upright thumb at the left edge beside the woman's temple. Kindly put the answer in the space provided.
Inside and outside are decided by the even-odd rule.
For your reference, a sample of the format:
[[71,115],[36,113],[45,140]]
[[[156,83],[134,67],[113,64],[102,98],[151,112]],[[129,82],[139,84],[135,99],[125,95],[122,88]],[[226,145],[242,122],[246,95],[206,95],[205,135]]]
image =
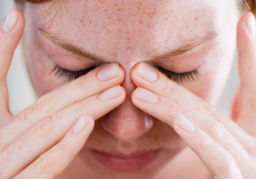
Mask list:
[[9,112],[6,75],[14,50],[22,37],[25,19],[18,9],[13,9],[0,26],[0,109]]

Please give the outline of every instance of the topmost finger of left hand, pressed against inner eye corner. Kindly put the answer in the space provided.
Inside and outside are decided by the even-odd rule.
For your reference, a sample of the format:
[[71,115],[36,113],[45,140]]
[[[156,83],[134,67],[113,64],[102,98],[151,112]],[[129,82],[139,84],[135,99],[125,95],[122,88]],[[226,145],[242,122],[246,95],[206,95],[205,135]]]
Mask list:
[[[99,74],[104,78],[100,79]],[[7,125],[0,129],[0,150],[12,143],[42,118],[73,105],[83,99],[99,94],[106,89],[121,84],[124,71],[118,63],[110,63],[67,83],[40,97],[34,104],[22,111]],[[106,81],[104,81],[106,80]],[[5,135],[13,131],[12,135]],[[1,137],[2,136],[2,137]]]

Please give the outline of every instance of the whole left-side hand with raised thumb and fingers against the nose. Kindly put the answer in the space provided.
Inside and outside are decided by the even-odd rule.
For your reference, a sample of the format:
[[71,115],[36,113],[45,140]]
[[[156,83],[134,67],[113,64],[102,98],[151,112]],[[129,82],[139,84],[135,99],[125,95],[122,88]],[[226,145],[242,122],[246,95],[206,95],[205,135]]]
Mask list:
[[0,26],[0,178],[54,178],[87,141],[93,119],[124,101],[125,90],[119,85],[124,71],[117,63],[100,66],[13,117],[6,75],[25,19],[17,9],[10,14]]

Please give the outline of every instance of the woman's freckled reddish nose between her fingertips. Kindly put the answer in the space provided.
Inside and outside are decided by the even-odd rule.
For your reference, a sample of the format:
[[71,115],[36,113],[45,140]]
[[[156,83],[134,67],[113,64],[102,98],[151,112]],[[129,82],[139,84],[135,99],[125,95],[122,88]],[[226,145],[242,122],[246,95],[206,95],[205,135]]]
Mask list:
[[131,142],[142,136],[153,126],[153,118],[137,108],[131,100],[131,94],[136,89],[129,73],[125,73],[121,86],[125,88],[125,101],[110,111],[101,120],[102,127],[113,136],[125,142]]

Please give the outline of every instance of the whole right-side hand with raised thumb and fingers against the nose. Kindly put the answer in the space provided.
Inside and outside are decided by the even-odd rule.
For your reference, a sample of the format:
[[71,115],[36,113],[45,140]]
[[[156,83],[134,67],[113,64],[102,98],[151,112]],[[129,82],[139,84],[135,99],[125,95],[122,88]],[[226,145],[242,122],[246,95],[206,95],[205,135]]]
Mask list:
[[131,73],[138,86],[133,103],[172,126],[216,179],[256,178],[256,37],[246,28],[250,15],[245,13],[237,28],[241,78],[237,123],[144,62]]

